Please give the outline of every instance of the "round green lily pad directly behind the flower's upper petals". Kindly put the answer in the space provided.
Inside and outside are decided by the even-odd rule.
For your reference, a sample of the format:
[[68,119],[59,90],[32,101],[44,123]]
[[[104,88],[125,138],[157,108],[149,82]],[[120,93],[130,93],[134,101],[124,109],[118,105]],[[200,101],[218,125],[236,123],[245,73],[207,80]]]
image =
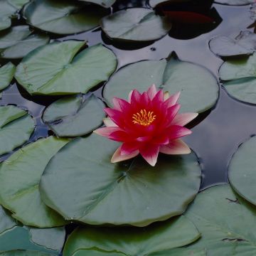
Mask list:
[[203,112],[218,100],[214,76],[206,68],[178,60],[174,54],[166,60],[144,60],[121,68],[107,82],[103,95],[111,106],[113,97],[127,99],[131,90],[144,92],[152,84],[171,94],[181,91],[181,112]]

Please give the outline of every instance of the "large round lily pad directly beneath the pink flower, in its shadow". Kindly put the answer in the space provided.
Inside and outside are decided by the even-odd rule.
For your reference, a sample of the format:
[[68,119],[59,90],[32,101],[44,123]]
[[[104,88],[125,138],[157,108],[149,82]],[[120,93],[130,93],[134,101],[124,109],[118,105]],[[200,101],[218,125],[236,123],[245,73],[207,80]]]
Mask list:
[[119,144],[96,134],[63,147],[46,166],[43,201],[67,220],[145,226],[183,213],[196,196],[201,169],[194,154],[111,164]]

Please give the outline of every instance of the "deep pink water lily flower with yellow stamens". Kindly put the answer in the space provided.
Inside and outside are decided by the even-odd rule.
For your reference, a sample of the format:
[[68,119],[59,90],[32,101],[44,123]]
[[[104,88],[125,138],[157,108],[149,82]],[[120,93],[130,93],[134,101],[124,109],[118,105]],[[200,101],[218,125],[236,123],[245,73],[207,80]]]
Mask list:
[[156,90],[151,85],[142,94],[132,90],[129,100],[114,97],[114,107],[105,108],[108,117],[105,126],[95,130],[96,134],[122,142],[114,152],[111,162],[131,159],[138,154],[155,166],[159,152],[164,154],[189,154],[191,149],[180,139],[191,134],[183,127],[191,122],[197,113],[178,114],[177,104],[180,92]]

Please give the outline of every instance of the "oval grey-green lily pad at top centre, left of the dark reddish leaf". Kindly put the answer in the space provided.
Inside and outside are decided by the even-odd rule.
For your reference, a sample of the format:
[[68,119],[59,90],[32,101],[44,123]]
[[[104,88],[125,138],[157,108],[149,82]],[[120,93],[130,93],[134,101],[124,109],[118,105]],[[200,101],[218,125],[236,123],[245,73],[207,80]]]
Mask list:
[[166,36],[171,23],[151,9],[132,8],[105,16],[101,27],[107,36],[115,40],[154,41]]

